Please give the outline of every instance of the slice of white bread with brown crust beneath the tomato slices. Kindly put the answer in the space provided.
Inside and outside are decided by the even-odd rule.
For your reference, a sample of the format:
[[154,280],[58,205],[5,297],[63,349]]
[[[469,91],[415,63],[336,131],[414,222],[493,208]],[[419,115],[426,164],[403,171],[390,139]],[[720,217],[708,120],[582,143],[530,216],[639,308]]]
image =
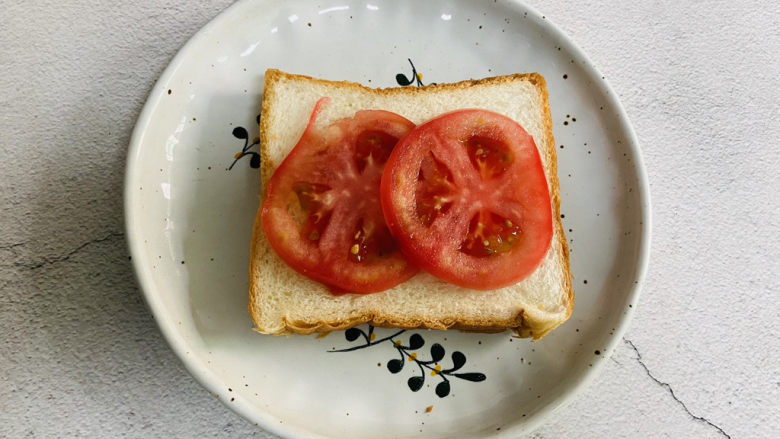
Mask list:
[[[315,103],[330,98],[318,126],[352,117],[358,110],[387,110],[415,124],[443,113],[481,108],[503,114],[530,133],[544,164],[553,214],[547,255],[529,277],[510,287],[475,291],[420,272],[381,293],[336,296],[288,267],[268,244],[260,212],[254,226],[249,268],[249,312],[264,334],[310,334],[361,323],[382,327],[500,332],[513,329],[539,339],[566,321],[574,306],[569,249],[560,220],[560,196],[552,120],[544,78],[516,74],[425,87],[371,89],[268,70],[260,120],[262,183],[292,150]],[[261,202],[264,199],[261,197]]]

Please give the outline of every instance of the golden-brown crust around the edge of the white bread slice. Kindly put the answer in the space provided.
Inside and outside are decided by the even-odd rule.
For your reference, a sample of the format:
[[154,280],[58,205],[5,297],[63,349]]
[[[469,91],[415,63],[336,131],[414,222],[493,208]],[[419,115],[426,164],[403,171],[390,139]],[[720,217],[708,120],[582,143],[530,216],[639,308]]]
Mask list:
[[[274,101],[274,94],[277,92],[275,85],[280,81],[285,80],[300,80],[305,79],[312,83],[336,86],[341,88],[355,89],[368,91],[371,93],[397,96],[397,95],[424,95],[430,90],[454,90],[454,89],[467,89],[478,85],[499,85],[507,82],[514,81],[526,81],[538,90],[543,100],[544,111],[544,129],[546,131],[547,141],[544,144],[537,143],[537,148],[540,154],[544,155],[546,162],[549,163],[549,167],[546,168],[547,182],[550,190],[551,208],[553,210],[553,227],[556,229],[554,236],[558,236],[559,239],[553,240],[552,246],[558,246],[558,249],[563,254],[563,265],[565,271],[568,274],[565,276],[563,306],[565,307],[565,318],[555,322],[534,322],[529,321],[526,318],[525,310],[518,311],[514,316],[508,319],[490,319],[490,320],[478,320],[478,319],[431,319],[431,320],[417,320],[409,319],[404,316],[387,315],[377,312],[366,312],[363,315],[356,316],[350,319],[342,319],[338,321],[315,321],[307,322],[302,320],[293,320],[287,317],[282,317],[281,327],[273,331],[260,330],[255,328],[256,331],[264,334],[273,335],[289,335],[289,334],[301,334],[308,335],[312,333],[328,333],[331,331],[344,330],[360,324],[369,323],[377,327],[392,327],[401,329],[457,329],[467,332],[481,332],[481,333],[497,333],[503,332],[507,329],[513,330],[520,337],[530,337],[534,340],[541,339],[547,335],[550,331],[557,326],[565,322],[572,313],[574,308],[575,293],[572,289],[571,282],[571,268],[569,261],[569,248],[566,242],[566,237],[561,223],[560,216],[560,187],[557,171],[557,155],[555,150],[555,141],[552,133],[552,117],[550,114],[549,96],[547,94],[547,86],[544,77],[538,73],[517,73],[513,75],[495,76],[477,80],[466,80],[457,83],[448,84],[436,84],[423,87],[393,87],[393,88],[369,88],[361,84],[348,82],[348,81],[329,81],[324,79],[312,78],[305,75],[296,75],[285,73],[276,69],[269,69],[265,74],[265,92],[263,93],[263,101],[261,105],[261,119],[260,119],[260,156],[261,156],[261,180],[262,190],[260,195],[260,209],[258,209],[257,216],[254,222],[253,239],[251,244],[251,256],[250,256],[250,289],[249,289],[249,313],[252,316],[253,321],[257,327],[261,326],[260,316],[262,309],[258,303],[262,296],[261,286],[255,281],[253,273],[257,272],[257,264],[261,263],[261,258],[258,255],[259,239],[263,239],[264,230],[262,227],[262,203],[265,199],[265,190],[268,179],[273,174],[274,170],[278,166],[271,159],[270,153],[267,149],[269,144],[269,131],[270,121],[268,118],[262,117],[263,114],[268,114],[268,110],[271,106],[271,102]],[[383,294],[383,293],[375,293]]]

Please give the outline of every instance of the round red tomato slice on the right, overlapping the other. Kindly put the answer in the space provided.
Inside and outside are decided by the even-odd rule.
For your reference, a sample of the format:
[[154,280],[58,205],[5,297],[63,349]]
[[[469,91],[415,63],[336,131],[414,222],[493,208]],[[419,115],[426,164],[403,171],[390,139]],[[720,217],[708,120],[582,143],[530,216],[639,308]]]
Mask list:
[[461,110],[413,129],[387,161],[381,194],[409,260],[455,285],[515,284],[550,247],[550,193],[536,144],[500,114]]

